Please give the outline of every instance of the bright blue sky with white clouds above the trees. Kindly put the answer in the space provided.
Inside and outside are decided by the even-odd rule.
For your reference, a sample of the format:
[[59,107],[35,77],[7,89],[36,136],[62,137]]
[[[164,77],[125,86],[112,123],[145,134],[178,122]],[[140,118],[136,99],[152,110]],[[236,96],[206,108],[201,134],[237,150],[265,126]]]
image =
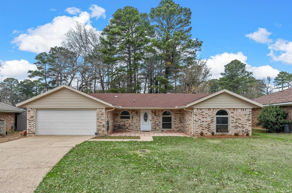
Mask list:
[[[0,61],[2,80],[27,78],[34,57],[60,46],[76,21],[102,30],[124,6],[149,13],[159,0],[148,1],[1,1]],[[292,1],[185,1],[192,11],[192,38],[203,41],[198,56],[208,59],[214,78],[234,59],[247,64],[257,79],[292,73]]]

